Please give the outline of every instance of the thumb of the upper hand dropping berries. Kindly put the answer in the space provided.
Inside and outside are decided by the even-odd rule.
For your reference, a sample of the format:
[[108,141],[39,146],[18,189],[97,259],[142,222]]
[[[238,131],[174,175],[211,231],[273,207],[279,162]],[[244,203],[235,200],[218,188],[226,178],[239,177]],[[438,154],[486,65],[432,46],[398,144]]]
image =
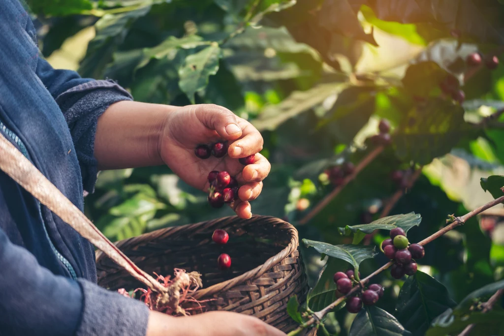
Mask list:
[[225,107],[214,104],[196,105],[196,116],[204,126],[214,129],[225,140],[241,137],[236,115]]

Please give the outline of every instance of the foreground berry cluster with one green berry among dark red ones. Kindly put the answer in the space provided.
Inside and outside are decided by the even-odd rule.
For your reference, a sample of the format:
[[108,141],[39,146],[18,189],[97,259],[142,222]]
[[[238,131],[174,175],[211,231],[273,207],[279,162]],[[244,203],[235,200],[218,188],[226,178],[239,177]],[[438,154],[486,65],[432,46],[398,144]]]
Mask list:
[[417,270],[415,259],[423,258],[425,255],[422,245],[409,244],[406,232],[401,228],[390,231],[390,238],[382,242],[382,250],[387,258],[395,261],[390,268],[390,274],[394,279],[414,275]]

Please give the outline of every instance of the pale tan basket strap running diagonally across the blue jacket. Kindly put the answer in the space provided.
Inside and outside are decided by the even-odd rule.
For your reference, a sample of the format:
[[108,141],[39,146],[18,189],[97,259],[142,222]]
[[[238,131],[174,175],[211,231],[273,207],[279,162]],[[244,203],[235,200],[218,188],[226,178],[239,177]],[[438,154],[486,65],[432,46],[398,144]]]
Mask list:
[[154,291],[166,293],[165,287],[142,271],[108,240],[2,133],[0,133],[0,169],[137,280]]

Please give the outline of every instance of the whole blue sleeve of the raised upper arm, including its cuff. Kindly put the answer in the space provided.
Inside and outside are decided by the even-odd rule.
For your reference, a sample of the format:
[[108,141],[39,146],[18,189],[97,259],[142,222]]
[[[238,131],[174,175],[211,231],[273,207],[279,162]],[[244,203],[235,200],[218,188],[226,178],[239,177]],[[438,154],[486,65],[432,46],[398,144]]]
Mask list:
[[84,190],[94,191],[97,162],[94,140],[98,117],[118,101],[133,100],[130,93],[111,80],[81,78],[70,70],[55,70],[38,59],[37,76],[56,100],[70,128],[81,167]]

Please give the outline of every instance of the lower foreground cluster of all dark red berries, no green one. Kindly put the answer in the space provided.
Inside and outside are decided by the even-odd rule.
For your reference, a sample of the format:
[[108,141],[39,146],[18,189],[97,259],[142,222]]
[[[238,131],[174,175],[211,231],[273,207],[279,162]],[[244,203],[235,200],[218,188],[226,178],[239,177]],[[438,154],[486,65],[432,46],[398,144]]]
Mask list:
[[[333,280],[336,283],[336,288],[341,294],[348,294],[356,283],[354,278],[354,271],[348,270],[346,272],[336,272]],[[360,274],[359,274],[360,276]],[[346,308],[349,313],[356,314],[362,309],[362,304],[366,306],[374,305],[384,293],[384,288],[378,284],[371,284],[366,290],[356,293],[348,298]]]

